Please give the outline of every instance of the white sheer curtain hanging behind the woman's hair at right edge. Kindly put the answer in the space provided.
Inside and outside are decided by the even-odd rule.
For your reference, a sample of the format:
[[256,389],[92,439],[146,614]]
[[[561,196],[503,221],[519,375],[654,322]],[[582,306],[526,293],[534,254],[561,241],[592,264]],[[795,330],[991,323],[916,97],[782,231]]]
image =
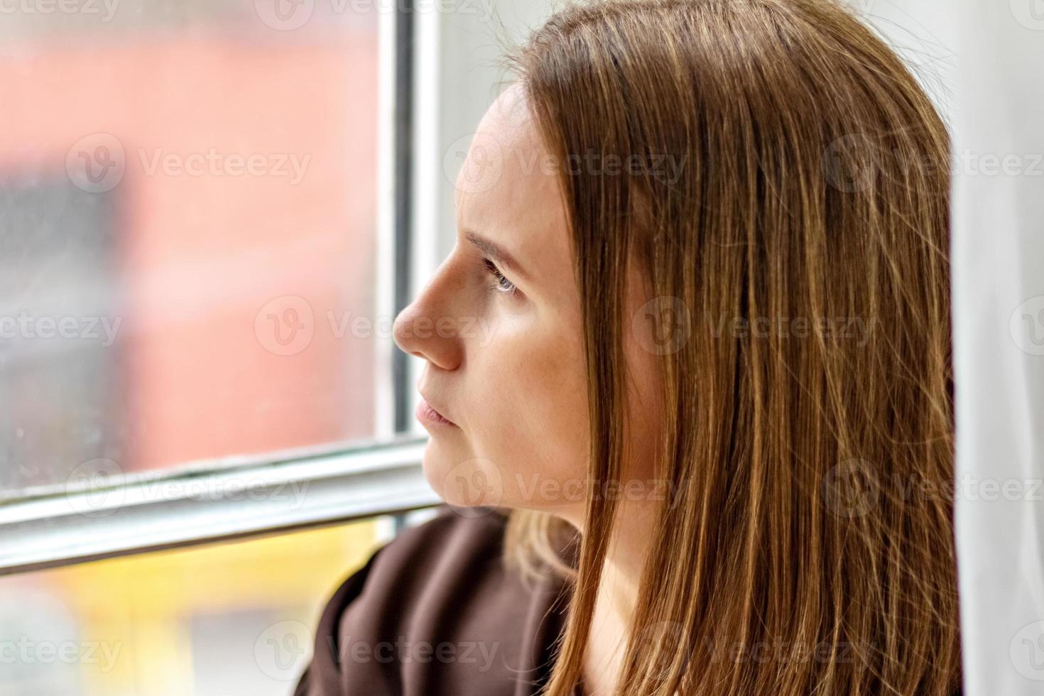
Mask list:
[[950,9],[965,693],[1044,694],[1044,2]]

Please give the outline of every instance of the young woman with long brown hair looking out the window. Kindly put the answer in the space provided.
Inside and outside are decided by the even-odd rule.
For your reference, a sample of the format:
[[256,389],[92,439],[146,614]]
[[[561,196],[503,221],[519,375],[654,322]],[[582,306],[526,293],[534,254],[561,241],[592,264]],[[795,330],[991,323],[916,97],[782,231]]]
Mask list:
[[397,319],[432,521],[298,694],[959,689],[948,135],[828,0],[571,4]]

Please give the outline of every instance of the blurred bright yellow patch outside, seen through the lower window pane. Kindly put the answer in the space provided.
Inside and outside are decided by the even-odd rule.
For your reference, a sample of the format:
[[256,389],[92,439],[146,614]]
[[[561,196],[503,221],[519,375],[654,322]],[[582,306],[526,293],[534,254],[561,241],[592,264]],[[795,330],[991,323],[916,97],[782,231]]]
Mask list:
[[[98,659],[80,662],[82,693],[187,696],[195,693],[187,618],[266,607],[278,617],[274,621],[299,621],[314,631],[330,595],[377,542],[378,523],[365,521],[93,561],[46,575],[77,618],[81,637],[100,644]],[[285,688],[289,693],[292,682]]]

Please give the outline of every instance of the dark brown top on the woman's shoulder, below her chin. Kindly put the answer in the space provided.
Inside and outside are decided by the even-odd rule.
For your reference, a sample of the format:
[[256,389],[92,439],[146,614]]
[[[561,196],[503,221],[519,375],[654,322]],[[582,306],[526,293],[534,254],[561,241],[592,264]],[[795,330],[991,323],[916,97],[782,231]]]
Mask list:
[[293,695],[536,694],[550,674],[569,585],[548,572],[527,587],[505,570],[506,519],[488,511],[464,517],[443,505],[345,580]]

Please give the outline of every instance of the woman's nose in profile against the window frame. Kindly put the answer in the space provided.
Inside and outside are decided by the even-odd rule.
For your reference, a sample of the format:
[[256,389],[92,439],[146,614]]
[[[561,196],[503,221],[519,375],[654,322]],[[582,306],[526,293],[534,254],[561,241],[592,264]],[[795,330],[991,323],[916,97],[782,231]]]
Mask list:
[[[451,285],[451,284],[446,284]],[[404,353],[424,358],[443,369],[455,369],[462,355],[456,318],[447,313],[446,288],[433,281],[396,317],[395,342]]]

